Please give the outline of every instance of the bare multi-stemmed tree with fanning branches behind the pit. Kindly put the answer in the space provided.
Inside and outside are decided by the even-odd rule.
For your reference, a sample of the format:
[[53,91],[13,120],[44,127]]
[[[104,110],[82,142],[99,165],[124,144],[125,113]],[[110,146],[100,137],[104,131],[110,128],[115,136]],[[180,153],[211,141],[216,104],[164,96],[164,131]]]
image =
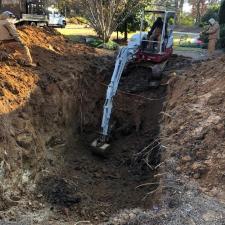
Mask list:
[[83,14],[104,43],[108,42],[113,31],[117,30],[117,27],[142,3],[140,0],[81,0],[81,2]]

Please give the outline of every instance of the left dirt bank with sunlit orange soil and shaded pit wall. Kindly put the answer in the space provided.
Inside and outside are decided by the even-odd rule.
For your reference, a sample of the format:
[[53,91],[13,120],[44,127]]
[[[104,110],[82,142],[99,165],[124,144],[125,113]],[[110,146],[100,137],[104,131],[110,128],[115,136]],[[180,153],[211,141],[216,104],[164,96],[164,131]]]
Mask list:
[[69,138],[97,127],[105,92],[99,84],[113,61],[110,52],[75,45],[51,29],[24,27],[20,34],[38,66],[20,66],[17,52],[0,62],[2,218],[12,214],[10,200],[28,204],[40,177],[61,168]]

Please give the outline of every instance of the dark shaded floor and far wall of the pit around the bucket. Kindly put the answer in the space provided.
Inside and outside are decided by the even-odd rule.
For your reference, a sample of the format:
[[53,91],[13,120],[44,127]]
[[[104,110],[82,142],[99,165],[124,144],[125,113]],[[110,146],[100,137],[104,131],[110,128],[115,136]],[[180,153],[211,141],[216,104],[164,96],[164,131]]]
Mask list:
[[[105,90],[102,93],[97,102],[103,103]],[[99,126],[90,121],[82,132],[80,127],[73,131],[64,148],[60,174],[40,179],[37,193],[53,205],[53,210],[66,207],[74,218],[96,224],[123,209],[151,208],[153,199],[147,193],[158,187],[154,175],[162,150],[158,135],[165,97],[166,86],[138,95],[119,92],[107,158],[92,154],[89,144]],[[102,106],[93,112],[99,119]],[[138,188],[145,183],[153,185]]]

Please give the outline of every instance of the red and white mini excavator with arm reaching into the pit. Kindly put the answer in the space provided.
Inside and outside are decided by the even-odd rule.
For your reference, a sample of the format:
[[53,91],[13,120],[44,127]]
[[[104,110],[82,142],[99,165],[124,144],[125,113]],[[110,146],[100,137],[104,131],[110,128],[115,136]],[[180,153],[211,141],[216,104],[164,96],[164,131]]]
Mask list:
[[[162,19],[163,27],[160,31],[161,35],[158,40],[149,38],[148,32],[143,31],[144,22],[147,21],[146,18],[150,17],[160,17]],[[168,59],[173,53],[173,31],[175,17],[175,11],[143,11],[140,33],[133,35],[128,42],[128,45],[120,48],[111,82],[108,85],[106,92],[100,136],[91,144],[95,153],[104,155],[110,147],[109,127],[113,108],[113,98],[117,93],[121,76],[127,67],[130,65],[135,65],[136,68],[144,67],[147,69],[148,76],[150,78],[148,81],[149,87],[154,86],[154,84],[157,83],[155,81],[159,81],[161,79],[162,72],[166,67]]]

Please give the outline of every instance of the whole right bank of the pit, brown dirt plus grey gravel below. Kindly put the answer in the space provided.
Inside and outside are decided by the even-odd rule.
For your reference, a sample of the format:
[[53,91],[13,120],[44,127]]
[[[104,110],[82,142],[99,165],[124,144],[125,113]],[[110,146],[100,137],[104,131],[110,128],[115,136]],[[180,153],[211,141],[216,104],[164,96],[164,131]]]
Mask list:
[[160,131],[161,181],[150,192],[161,202],[152,210],[121,210],[103,224],[224,224],[224,68],[223,56],[171,74]]

